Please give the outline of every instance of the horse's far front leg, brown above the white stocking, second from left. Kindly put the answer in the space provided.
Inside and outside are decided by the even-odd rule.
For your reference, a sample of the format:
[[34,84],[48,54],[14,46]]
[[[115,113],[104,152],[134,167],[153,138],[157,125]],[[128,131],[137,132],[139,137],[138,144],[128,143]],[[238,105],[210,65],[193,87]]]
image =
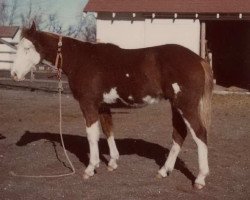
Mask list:
[[108,170],[113,171],[117,166],[117,160],[119,159],[119,152],[116,147],[114,133],[113,133],[113,123],[112,116],[109,108],[100,108],[99,109],[100,122],[102,125],[103,133],[107,137],[109,152],[110,152],[110,161],[108,163]]

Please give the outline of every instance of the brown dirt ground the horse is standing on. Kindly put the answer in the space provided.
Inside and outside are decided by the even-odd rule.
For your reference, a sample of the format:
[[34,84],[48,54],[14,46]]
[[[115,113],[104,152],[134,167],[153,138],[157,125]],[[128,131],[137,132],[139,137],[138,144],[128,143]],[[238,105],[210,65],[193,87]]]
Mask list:
[[0,199],[250,199],[250,96],[215,95],[209,135],[210,175],[197,191],[197,149],[190,135],[173,173],[157,179],[171,144],[168,102],[142,109],[113,110],[119,167],[107,171],[102,136],[101,164],[83,180],[88,143],[78,103],[63,95],[63,133],[76,174],[63,178],[14,177],[68,173],[58,130],[58,96],[0,89]]

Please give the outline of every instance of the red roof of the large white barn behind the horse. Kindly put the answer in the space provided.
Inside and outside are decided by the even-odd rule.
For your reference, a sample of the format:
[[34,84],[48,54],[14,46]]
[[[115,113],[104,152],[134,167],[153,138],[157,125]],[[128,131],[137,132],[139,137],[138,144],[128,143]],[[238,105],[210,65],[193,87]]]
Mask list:
[[250,13],[249,0],[89,0],[85,12]]

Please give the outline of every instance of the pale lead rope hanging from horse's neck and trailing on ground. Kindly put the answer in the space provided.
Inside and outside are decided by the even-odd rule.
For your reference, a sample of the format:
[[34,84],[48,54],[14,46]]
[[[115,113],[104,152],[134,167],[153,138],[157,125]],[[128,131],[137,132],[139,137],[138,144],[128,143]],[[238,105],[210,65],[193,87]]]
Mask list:
[[[65,157],[67,158],[67,161],[71,167],[72,172],[66,173],[66,174],[58,174],[58,175],[20,175],[16,174],[13,171],[10,172],[12,176],[17,177],[25,177],[25,178],[59,178],[59,177],[65,177],[70,176],[76,173],[74,165],[72,164],[63,140],[63,134],[62,134],[62,91],[63,91],[63,85],[62,85],[62,36],[59,36],[59,42],[58,42],[58,49],[57,49],[57,55],[56,55],[56,61],[55,61],[55,67],[57,68],[57,76],[58,76],[58,96],[59,96],[59,133],[60,133],[60,139],[63,147],[63,152]],[[58,66],[60,61],[60,67]]]

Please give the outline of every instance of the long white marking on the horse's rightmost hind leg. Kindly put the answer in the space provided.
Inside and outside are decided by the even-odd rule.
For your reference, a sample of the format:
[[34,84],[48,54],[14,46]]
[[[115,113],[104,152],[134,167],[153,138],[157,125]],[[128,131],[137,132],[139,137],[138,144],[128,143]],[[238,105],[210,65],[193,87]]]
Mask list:
[[185,119],[182,111],[181,110],[179,110],[179,111],[180,111],[180,113],[183,117],[183,120],[184,120],[186,126],[188,127],[188,129],[190,130],[190,133],[191,133],[191,135],[192,135],[192,137],[193,137],[193,139],[198,147],[199,174],[195,180],[195,183],[197,183],[201,186],[205,186],[205,178],[209,174],[207,145],[196,136],[193,128],[191,127],[191,124],[188,122],[187,119]]

